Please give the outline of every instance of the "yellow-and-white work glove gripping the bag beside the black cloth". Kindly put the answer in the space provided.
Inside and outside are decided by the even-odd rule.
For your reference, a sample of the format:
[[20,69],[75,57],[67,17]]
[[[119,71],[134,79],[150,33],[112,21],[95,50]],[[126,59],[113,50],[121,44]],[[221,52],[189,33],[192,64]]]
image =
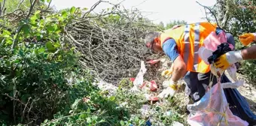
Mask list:
[[214,62],[216,68],[226,70],[230,65],[242,61],[241,51],[230,51],[217,58],[217,62]]

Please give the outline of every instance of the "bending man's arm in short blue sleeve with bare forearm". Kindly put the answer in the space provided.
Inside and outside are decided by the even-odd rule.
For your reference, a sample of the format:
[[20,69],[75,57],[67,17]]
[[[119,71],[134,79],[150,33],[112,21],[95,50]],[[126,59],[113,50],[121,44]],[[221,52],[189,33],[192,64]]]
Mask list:
[[174,39],[166,40],[166,42],[163,43],[163,52],[165,52],[166,55],[169,56],[174,64],[172,81],[177,82],[186,72],[186,65],[183,61],[183,58],[178,53],[176,42]]

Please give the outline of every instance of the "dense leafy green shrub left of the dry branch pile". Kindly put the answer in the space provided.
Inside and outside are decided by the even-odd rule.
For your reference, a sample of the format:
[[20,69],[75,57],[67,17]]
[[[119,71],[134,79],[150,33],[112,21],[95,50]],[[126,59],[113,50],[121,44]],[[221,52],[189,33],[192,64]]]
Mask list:
[[78,55],[61,46],[59,35],[71,19],[71,13],[42,19],[37,11],[20,22],[17,34],[1,29],[1,122],[39,124],[72,102],[69,92],[74,88],[67,77],[80,71]]

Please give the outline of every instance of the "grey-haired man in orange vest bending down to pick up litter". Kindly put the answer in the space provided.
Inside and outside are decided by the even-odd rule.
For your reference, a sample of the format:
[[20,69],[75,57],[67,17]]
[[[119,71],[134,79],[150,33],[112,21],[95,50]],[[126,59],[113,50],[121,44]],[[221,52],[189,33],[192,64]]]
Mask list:
[[[145,45],[154,52],[164,52],[174,65],[169,86],[158,95],[159,98],[175,95],[181,77],[184,77],[187,94],[194,102],[200,101],[205,95],[211,72],[210,66],[201,60],[198,51],[200,46],[203,46],[203,40],[212,31],[219,34],[221,29],[216,24],[206,22],[176,26],[164,32],[151,31],[146,34]],[[235,46],[232,35],[228,35],[227,40]],[[217,83],[216,78],[213,83]]]

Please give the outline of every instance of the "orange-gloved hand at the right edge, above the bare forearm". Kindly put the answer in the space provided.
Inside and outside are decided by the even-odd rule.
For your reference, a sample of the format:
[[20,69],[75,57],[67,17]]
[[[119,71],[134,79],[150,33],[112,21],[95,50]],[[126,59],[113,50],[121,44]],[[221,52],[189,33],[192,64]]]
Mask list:
[[256,33],[245,33],[239,36],[239,40],[244,46],[248,46],[252,41],[256,41]]

